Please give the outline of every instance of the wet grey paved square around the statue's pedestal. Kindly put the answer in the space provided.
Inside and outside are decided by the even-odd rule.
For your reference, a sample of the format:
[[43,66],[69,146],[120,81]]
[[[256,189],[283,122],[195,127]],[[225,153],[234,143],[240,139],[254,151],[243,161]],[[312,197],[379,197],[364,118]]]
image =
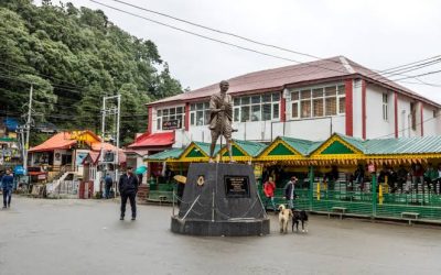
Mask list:
[[311,217],[308,234],[173,234],[170,207],[136,222],[97,200],[13,198],[0,211],[0,274],[441,274],[441,229]]

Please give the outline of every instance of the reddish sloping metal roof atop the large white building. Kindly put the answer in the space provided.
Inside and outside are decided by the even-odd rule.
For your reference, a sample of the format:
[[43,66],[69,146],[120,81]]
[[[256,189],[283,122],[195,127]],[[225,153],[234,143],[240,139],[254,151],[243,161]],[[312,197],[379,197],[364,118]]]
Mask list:
[[[283,88],[292,85],[303,85],[311,81],[325,81],[329,79],[334,79],[335,81],[335,79],[343,80],[354,76],[363,76],[366,79],[370,79],[374,82],[384,85],[389,89],[397,90],[398,92],[405,94],[411,98],[417,98],[438,108],[441,107],[439,103],[431,101],[430,99],[427,99],[421,95],[413,92],[412,90],[394,82],[392,80],[387,79],[386,77],[344,56],[334,56],[331,58],[252,72],[246,75],[233,77],[228,79],[228,94],[234,95],[244,92],[281,91]],[[218,92],[218,90],[219,85],[216,82],[200,89],[183,92],[169,98],[163,98],[147,105],[165,105],[171,102],[184,102],[194,99],[208,99],[209,96]]]

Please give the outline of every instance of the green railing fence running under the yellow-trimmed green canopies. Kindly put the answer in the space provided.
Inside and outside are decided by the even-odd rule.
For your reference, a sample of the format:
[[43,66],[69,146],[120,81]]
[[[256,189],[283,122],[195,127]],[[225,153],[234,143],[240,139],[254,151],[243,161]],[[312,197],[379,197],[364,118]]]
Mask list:
[[[157,186],[157,190],[150,190],[148,200],[172,202],[174,187],[173,184],[160,184]],[[375,183],[369,185],[366,190],[352,190],[345,183],[332,186],[321,184],[321,189],[318,189],[318,184],[314,183],[312,187],[312,189],[295,189],[298,197],[294,207],[297,209],[323,213],[333,213],[344,209],[344,215],[347,216],[402,220],[409,220],[408,215],[410,213],[415,220],[441,222],[441,195],[431,191],[379,194],[379,188],[376,188]],[[265,202],[266,197],[261,185],[258,185],[257,189]],[[373,193],[373,189],[376,191]],[[287,205],[283,188],[276,189],[275,202],[276,207],[281,204]],[[271,204],[268,204],[268,210],[272,210]]]

